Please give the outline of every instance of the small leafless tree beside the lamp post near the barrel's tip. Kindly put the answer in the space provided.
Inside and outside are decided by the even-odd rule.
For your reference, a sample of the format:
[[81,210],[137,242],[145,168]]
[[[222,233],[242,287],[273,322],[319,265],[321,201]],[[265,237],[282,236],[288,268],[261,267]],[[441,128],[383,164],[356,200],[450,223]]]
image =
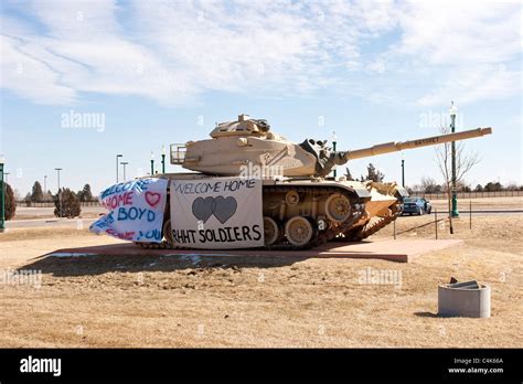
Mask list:
[[[441,134],[450,134],[449,127],[442,127]],[[436,147],[438,166],[444,177],[444,192],[447,195],[449,210],[449,230],[453,234],[452,226],[452,143],[445,142]],[[461,141],[456,142],[456,184],[462,182],[465,175],[479,163],[480,158],[476,152],[467,152]]]

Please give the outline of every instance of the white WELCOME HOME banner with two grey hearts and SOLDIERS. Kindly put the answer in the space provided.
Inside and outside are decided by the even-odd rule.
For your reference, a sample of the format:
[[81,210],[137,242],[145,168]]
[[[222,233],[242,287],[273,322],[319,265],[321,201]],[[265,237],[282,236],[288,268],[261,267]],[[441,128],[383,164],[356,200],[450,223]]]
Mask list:
[[203,249],[264,245],[262,180],[213,178],[171,181],[174,243]]

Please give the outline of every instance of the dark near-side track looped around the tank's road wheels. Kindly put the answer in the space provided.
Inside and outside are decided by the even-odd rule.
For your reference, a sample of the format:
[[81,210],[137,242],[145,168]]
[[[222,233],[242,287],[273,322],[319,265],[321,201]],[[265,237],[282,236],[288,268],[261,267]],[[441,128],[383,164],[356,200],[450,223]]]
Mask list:
[[[338,234],[340,233],[345,233],[351,230],[351,227],[356,223],[365,213],[365,204],[364,202],[357,198],[355,193],[351,193],[348,190],[344,190],[342,188],[321,188],[321,186],[296,186],[296,185],[286,185],[286,186],[280,186],[280,185],[274,185],[274,186],[264,186],[263,193],[269,194],[269,193],[286,193],[289,190],[297,191],[298,193],[317,193],[317,194],[324,194],[324,195],[330,195],[331,193],[343,193],[349,201],[351,202],[351,212],[352,215],[349,220],[345,222],[339,224],[339,225],[329,225],[327,230],[324,231],[316,231],[317,235],[313,237],[309,243],[302,246],[296,246],[290,243],[282,243],[282,244],[274,244],[274,245],[266,245],[264,247],[258,247],[258,248],[250,248],[250,249],[263,249],[263,250],[301,250],[301,249],[310,249],[318,247],[322,244],[325,244],[327,242],[332,241],[334,237],[337,237]],[[169,220],[169,218],[168,218]],[[171,245],[169,242],[163,239],[161,243],[141,243],[141,242],[135,242],[136,245],[138,245],[141,248],[145,249],[194,249],[190,247],[181,247],[178,245]]]

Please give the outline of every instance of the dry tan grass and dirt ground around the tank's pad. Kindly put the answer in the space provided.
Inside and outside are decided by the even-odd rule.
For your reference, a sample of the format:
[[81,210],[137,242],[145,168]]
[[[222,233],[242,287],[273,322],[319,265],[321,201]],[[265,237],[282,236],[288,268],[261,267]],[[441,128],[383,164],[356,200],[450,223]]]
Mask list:
[[[118,243],[77,230],[0,234],[0,346],[523,346],[523,215],[438,223],[463,245],[413,263],[372,259],[169,256],[40,257]],[[401,217],[398,238],[431,238],[434,215]],[[389,237],[393,226],[376,234]],[[394,284],[363,280],[392,273]],[[492,287],[490,319],[437,317],[450,276]]]

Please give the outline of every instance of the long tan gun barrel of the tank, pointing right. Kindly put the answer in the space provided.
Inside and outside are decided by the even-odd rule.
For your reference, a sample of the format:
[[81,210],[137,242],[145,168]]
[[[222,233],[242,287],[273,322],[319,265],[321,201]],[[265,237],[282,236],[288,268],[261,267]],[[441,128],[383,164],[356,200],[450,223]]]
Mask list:
[[356,149],[356,150],[346,151],[346,152],[337,152],[337,157],[339,158],[337,163],[340,164],[341,162],[346,162],[349,160],[362,159],[362,158],[367,158],[367,157],[376,156],[376,154],[398,152],[405,149],[415,149],[415,148],[420,148],[420,147],[437,146],[445,142],[471,139],[474,137],[481,137],[481,136],[491,135],[491,134],[492,134],[492,128],[488,127],[488,128],[463,130],[463,131],[455,132],[455,134],[426,137],[426,138],[416,139],[416,140],[396,141],[396,142],[391,141],[391,142],[386,142],[386,143],[382,143],[377,146],[372,146],[369,148]]

